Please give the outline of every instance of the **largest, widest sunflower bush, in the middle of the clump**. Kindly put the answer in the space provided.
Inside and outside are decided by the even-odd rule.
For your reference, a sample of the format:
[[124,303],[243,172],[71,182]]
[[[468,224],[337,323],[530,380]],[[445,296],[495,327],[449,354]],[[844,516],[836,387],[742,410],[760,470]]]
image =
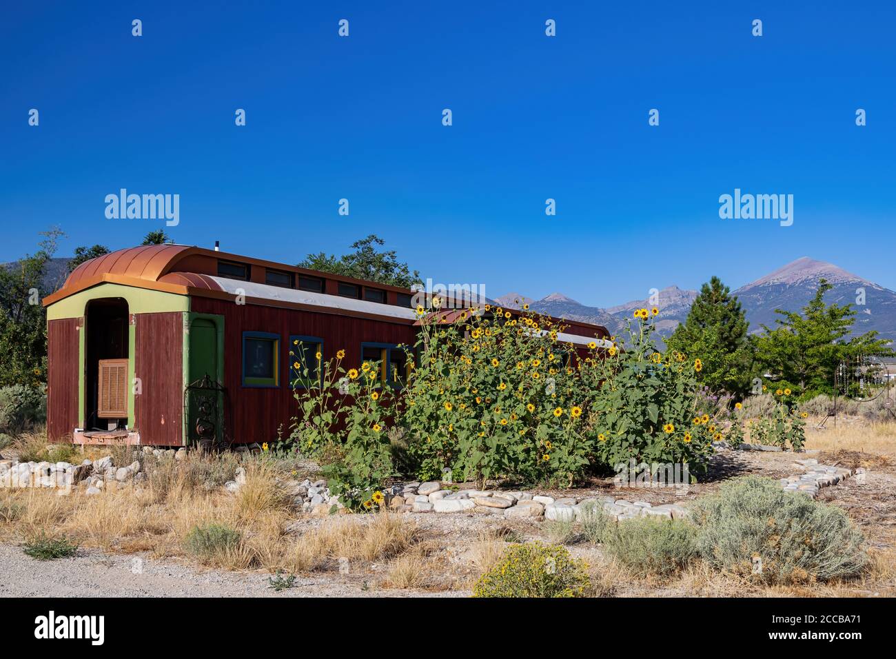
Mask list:
[[[426,312],[418,309],[418,314]],[[470,309],[444,325],[426,316],[401,423],[421,479],[444,468],[464,481],[571,484],[590,464],[592,397],[576,377],[562,325],[503,308]]]

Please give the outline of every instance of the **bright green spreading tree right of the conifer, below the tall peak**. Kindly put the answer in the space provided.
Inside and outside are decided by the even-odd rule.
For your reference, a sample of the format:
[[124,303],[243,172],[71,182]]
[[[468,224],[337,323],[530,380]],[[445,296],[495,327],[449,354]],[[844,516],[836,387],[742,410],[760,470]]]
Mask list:
[[831,288],[821,280],[801,313],[775,309],[781,316],[777,326],[762,325],[764,334],[757,340],[763,369],[779,378],[777,386],[793,387],[802,398],[832,394],[834,372],[842,360],[893,354],[889,342],[878,339],[877,332],[849,337],[857,312],[849,304],[825,304],[824,294]]

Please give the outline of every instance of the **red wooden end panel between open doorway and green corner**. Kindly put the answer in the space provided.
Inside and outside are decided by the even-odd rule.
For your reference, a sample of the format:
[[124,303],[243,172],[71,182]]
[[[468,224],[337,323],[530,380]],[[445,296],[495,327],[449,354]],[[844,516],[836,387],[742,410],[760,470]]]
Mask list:
[[137,314],[134,377],[134,423],[140,443],[180,446],[184,415],[184,315],[177,312]]

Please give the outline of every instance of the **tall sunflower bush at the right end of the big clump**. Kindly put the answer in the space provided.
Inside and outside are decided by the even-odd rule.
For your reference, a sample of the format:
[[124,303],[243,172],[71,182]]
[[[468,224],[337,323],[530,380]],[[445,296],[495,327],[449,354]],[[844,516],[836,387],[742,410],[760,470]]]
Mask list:
[[652,339],[658,314],[657,308],[635,310],[627,339],[585,360],[584,388],[595,393],[589,437],[599,463],[611,468],[634,458],[639,464],[687,463],[692,475],[704,473],[711,442],[720,435],[694,395],[702,362],[658,350]]

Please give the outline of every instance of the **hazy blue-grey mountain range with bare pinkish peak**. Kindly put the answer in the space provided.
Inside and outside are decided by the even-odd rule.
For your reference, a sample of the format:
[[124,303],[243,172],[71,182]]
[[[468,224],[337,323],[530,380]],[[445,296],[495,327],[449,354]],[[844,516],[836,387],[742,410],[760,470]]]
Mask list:
[[[807,256],[766,274],[754,282],[734,290],[750,323],[750,332],[762,331],[762,325],[775,326],[780,317],[775,309],[799,311],[806,305],[818,289],[818,284],[826,279],[833,287],[824,295],[828,304],[852,304],[858,311],[853,325],[856,334],[876,330],[883,338],[896,339],[896,292],[869,282],[855,274],[848,273],[834,264],[816,261]],[[864,304],[861,296],[864,291]],[[677,286],[659,290],[660,309],[657,321],[661,337],[671,335],[679,323],[683,322],[697,297],[696,290],[682,290]],[[619,334],[626,321],[637,308],[650,308],[649,299],[633,299],[616,307],[599,308],[583,305],[563,293],[551,293],[546,298],[530,299],[521,293],[507,293],[495,302],[508,308],[521,308],[529,304],[538,313],[579,320],[585,323],[603,325],[610,334]]]

